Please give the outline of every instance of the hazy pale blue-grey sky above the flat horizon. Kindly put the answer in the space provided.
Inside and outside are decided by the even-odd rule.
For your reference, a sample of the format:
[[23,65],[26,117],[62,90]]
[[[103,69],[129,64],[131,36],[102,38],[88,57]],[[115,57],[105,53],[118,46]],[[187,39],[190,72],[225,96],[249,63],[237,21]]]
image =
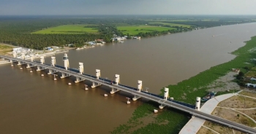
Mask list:
[[256,15],[256,0],[0,0],[0,15]]

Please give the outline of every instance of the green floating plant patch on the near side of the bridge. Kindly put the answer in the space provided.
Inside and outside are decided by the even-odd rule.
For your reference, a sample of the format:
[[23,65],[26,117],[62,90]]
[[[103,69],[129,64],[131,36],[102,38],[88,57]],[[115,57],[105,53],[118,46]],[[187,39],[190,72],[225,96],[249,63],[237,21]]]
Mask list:
[[[119,125],[110,133],[178,133],[189,121],[190,115],[172,108],[159,110],[159,104],[148,101],[135,109],[132,118],[124,125]],[[178,121],[178,122],[177,122]]]

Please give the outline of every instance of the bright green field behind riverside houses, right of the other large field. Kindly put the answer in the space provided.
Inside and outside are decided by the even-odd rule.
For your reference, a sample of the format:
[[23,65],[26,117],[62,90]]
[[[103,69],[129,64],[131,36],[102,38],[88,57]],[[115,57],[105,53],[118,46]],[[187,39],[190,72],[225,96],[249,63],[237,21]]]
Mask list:
[[129,35],[136,35],[140,32],[152,32],[152,31],[168,31],[176,28],[167,28],[160,26],[152,26],[152,25],[126,25],[126,26],[117,26],[117,29],[122,31],[122,33]]

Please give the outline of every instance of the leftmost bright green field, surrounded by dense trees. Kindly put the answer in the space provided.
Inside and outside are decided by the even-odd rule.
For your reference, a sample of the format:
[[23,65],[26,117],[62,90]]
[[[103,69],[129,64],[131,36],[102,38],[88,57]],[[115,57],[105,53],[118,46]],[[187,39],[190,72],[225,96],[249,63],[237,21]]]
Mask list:
[[59,25],[53,28],[43,29],[41,31],[36,31],[33,33],[37,34],[54,34],[54,33],[62,33],[62,34],[74,34],[74,33],[97,33],[98,28],[84,28],[85,25]]

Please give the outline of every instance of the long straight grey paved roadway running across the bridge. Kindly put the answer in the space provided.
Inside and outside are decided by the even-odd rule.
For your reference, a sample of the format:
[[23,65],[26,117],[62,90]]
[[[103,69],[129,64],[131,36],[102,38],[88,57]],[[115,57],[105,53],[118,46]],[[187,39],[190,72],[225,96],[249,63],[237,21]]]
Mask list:
[[99,84],[103,84],[103,85],[106,85],[108,87],[113,87],[113,88],[116,88],[118,90],[122,90],[124,92],[129,92],[133,95],[138,95],[138,96],[141,96],[143,98],[147,98],[151,101],[156,101],[158,103],[162,103],[162,105],[170,106],[170,107],[173,107],[174,109],[185,111],[189,114],[194,115],[195,117],[200,117],[200,118],[203,118],[203,119],[210,120],[212,122],[217,122],[219,124],[226,125],[228,127],[233,127],[234,129],[241,130],[245,133],[255,133],[256,134],[256,130],[253,129],[252,127],[247,127],[245,125],[241,125],[241,124],[238,124],[236,122],[231,122],[227,119],[222,119],[220,117],[216,117],[216,116],[211,115],[211,114],[206,114],[206,113],[203,113],[201,111],[197,111],[195,109],[190,109],[187,106],[182,106],[182,105],[179,105],[177,103],[173,103],[171,101],[165,101],[165,100],[160,99],[160,98],[158,98],[154,95],[150,95],[150,93],[138,92],[138,91],[135,91],[135,90],[131,90],[127,87],[121,87],[120,85],[110,84],[109,82],[105,82],[105,81],[102,81],[102,80],[99,80],[99,79],[94,79],[94,78],[91,78],[90,76],[85,76],[83,74],[78,74],[77,72],[68,71],[68,70],[65,70],[63,68],[57,68],[57,67],[53,67],[53,66],[49,66],[49,65],[45,65],[45,64],[31,62],[29,60],[21,60],[21,59],[18,59],[18,58],[11,58],[11,57],[7,57],[7,56],[4,56],[4,55],[0,55],[0,57],[1,58],[7,58],[7,59],[10,59],[10,60],[20,60],[20,61],[23,61],[24,63],[31,63],[31,64],[34,64],[34,65],[37,65],[37,66],[42,66],[42,67],[45,67],[45,68],[50,68],[50,69],[53,69],[53,70],[57,70],[61,73],[66,73],[66,74],[69,74],[69,75],[72,75],[72,76],[78,76],[78,77],[83,78],[83,79],[88,79],[91,82],[97,82]]

